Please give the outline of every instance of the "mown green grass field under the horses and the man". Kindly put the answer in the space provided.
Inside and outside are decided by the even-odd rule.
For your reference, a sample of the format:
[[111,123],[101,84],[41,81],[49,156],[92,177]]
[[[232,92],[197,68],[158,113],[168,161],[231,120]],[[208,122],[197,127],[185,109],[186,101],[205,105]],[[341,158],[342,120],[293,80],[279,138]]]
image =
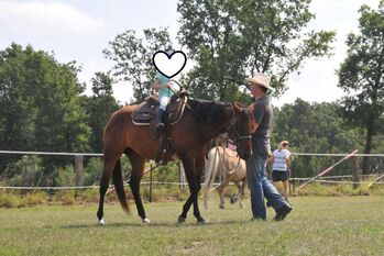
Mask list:
[[[135,205],[127,216],[107,204],[0,209],[0,255],[384,255],[384,197],[296,197],[284,222],[251,222],[245,209],[227,203],[193,212],[178,225],[183,202],[146,203],[152,221],[141,224]],[[202,202],[200,203],[202,208]]]

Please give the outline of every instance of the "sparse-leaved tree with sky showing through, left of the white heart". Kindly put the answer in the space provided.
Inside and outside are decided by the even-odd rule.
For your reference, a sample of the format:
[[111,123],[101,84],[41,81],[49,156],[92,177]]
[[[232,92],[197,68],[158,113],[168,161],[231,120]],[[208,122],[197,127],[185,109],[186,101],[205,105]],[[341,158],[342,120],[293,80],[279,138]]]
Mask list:
[[105,49],[107,58],[113,60],[113,76],[128,81],[133,88],[133,96],[138,102],[151,94],[155,68],[152,56],[158,49],[172,47],[167,29],[144,30],[144,37],[129,30],[114,37]]

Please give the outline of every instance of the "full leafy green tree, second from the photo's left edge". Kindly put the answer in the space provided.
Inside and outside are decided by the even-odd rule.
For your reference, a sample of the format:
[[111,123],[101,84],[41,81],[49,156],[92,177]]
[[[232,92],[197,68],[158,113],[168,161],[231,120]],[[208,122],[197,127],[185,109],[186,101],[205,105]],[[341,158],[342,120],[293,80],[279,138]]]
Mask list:
[[89,149],[90,129],[80,107],[84,88],[77,80],[75,63],[58,64],[42,56],[36,65],[34,104],[36,148],[53,152],[85,152]]

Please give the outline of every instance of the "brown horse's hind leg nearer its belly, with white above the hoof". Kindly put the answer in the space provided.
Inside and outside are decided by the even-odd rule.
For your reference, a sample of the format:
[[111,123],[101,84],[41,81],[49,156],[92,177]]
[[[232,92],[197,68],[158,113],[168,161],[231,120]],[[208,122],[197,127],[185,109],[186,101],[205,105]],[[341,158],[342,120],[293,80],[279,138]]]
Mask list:
[[131,149],[127,149],[124,153],[130,158],[132,165],[130,187],[138,208],[138,214],[141,216],[143,223],[150,223],[150,220],[146,219],[145,210],[140,196],[140,182],[144,174],[143,170],[145,159]]

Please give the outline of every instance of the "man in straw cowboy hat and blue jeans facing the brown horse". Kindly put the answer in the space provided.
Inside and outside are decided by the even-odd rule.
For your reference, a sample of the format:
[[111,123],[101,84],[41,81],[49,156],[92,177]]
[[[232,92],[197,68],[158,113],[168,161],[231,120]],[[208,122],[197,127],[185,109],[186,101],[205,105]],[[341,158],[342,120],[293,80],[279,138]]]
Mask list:
[[271,155],[270,134],[272,131],[273,108],[266,94],[274,91],[271,78],[256,74],[246,78],[253,96],[253,116],[256,132],[252,135],[252,156],[245,162],[248,186],[251,190],[252,220],[266,220],[264,197],[276,211],[275,221],[282,221],[292,211],[289,203],[277,192],[266,178],[266,159]]

